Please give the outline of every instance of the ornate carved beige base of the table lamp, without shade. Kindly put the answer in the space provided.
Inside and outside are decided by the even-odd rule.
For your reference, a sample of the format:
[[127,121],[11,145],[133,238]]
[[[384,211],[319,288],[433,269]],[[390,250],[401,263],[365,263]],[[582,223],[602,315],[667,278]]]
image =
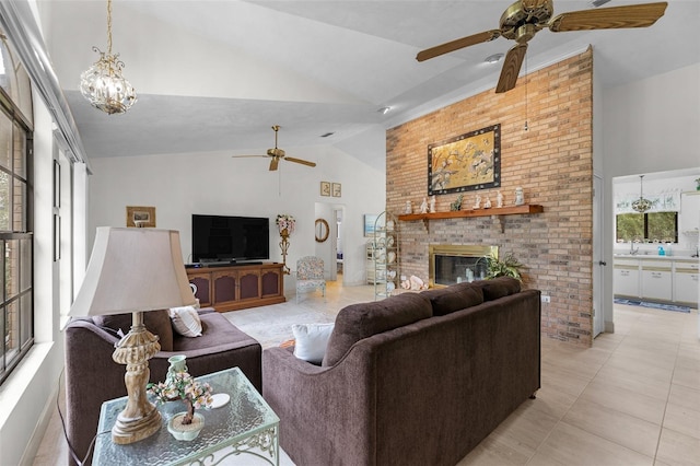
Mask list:
[[161,413],[145,396],[151,376],[149,359],[159,352],[158,337],[143,326],[143,313],[135,312],[131,330],[116,346],[112,359],[127,365],[124,382],[129,398],[112,429],[112,441],[125,445],[153,435],[161,429]]

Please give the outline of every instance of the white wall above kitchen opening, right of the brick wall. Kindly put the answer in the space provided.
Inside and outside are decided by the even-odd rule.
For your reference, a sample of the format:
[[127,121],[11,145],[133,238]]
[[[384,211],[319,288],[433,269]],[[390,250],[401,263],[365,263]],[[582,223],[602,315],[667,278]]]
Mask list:
[[[603,172],[605,218],[614,238],[612,177],[666,172],[700,165],[700,63],[658,74],[628,85],[603,91]],[[612,264],[612,242],[606,258]],[[605,282],[612,283],[612,267],[605,268]],[[612,289],[605,295],[605,325],[614,331]]]

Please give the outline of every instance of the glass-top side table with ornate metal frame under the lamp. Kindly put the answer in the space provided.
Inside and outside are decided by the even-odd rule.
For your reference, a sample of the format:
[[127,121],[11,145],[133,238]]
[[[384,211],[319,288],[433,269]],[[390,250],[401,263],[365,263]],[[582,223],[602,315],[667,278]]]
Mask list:
[[115,465],[215,465],[231,455],[255,455],[279,465],[280,419],[262,399],[238,368],[197,377],[208,382],[213,393],[225,393],[231,399],[221,408],[198,409],[205,416],[205,428],[192,441],[175,440],[167,421],[185,410],[182,401],[159,405],[163,416],[161,430],[148,439],[128,445],[112,442],[112,427],[127,403],[127,397],[102,405],[97,440],[92,464]]

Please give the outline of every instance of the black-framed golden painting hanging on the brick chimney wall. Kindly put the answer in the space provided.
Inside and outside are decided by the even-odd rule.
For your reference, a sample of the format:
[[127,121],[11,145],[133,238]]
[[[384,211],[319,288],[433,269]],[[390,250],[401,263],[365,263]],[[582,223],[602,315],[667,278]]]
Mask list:
[[428,145],[428,195],[501,186],[501,125]]

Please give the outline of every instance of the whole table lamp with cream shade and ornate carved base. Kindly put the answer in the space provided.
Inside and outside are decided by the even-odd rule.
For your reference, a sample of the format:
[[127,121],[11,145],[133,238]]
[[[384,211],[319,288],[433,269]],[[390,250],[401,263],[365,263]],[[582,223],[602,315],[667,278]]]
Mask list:
[[[143,325],[143,313],[195,304],[179,244],[179,232],[97,228],[85,279],[69,315],[132,313],[131,330],[116,345],[115,362],[126,364],[127,406],[112,429],[112,440],[128,444],[161,429],[161,415],[148,400],[149,359],[159,337]],[[85,354],[89,357],[89,354]]]

